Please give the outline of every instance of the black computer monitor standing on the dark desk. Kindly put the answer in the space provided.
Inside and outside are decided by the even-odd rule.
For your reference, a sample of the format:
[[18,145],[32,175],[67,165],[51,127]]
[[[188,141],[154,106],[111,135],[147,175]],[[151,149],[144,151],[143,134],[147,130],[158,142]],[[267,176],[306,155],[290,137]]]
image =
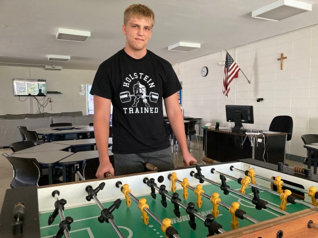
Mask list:
[[240,132],[243,123],[254,123],[253,106],[225,105],[226,121],[234,122],[232,132]]

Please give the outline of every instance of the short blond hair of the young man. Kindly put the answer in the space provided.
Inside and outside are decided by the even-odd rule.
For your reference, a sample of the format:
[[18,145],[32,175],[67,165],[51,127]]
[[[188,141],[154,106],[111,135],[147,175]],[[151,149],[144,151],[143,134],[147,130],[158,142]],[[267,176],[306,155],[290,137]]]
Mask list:
[[126,8],[124,12],[124,25],[128,23],[131,17],[136,17],[137,19],[140,18],[147,18],[151,21],[151,27],[154,25],[154,13],[153,11],[147,7],[146,5],[142,4],[133,4]]

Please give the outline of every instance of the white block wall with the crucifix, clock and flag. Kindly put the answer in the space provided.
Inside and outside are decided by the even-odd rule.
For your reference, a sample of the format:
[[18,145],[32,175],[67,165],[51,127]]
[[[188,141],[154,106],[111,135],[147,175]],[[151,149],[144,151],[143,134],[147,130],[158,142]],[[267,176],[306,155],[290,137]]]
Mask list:
[[[203,124],[220,121],[220,126],[227,126],[226,104],[253,105],[254,124],[244,126],[265,130],[273,117],[289,115],[294,125],[286,153],[305,157],[301,135],[318,134],[317,42],[315,26],[228,50],[251,81],[240,72],[230,84],[228,98],[222,93],[224,67],[217,66],[222,52],[174,64],[183,82],[185,115],[203,117]],[[287,56],[284,70],[277,60],[281,53]],[[201,76],[203,66],[209,69],[206,77]],[[256,98],[264,101],[256,102]]]

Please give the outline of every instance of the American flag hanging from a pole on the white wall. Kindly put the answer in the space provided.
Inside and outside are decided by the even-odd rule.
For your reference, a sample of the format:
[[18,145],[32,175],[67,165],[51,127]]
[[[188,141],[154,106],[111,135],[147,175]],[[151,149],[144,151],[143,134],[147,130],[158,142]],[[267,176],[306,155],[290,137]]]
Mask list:
[[226,52],[225,66],[224,66],[224,79],[223,79],[223,94],[228,97],[230,92],[230,83],[234,78],[238,77],[240,68],[235,63],[234,59]]

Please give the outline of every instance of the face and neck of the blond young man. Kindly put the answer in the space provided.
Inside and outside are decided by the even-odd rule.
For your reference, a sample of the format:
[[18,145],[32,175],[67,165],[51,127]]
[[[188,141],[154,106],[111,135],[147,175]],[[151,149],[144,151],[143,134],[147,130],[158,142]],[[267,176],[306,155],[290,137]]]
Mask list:
[[132,17],[126,26],[123,25],[123,34],[126,35],[126,50],[144,50],[152,34],[151,21]]

